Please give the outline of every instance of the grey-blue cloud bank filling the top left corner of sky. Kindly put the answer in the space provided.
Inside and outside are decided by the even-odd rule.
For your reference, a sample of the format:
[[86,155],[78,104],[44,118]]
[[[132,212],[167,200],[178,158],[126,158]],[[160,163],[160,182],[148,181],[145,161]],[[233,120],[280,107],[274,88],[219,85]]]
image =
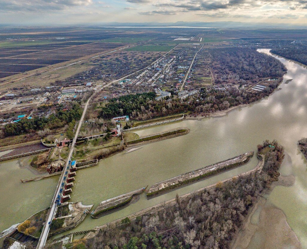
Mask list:
[[65,10],[90,4],[92,0],[1,0],[0,11]]

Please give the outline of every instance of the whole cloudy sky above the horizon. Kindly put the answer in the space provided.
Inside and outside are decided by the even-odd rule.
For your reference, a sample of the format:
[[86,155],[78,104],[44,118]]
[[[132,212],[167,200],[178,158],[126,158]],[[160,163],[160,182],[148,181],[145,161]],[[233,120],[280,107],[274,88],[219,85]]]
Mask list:
[[307,25],[307,0],[0,0],[0,23],[242,21]]

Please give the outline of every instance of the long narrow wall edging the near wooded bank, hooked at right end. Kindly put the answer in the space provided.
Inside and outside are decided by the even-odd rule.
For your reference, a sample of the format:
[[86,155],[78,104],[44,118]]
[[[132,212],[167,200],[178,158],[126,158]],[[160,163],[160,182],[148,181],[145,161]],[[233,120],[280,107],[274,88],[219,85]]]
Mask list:
[[[242,174],[236,175],[236,176],[234,176],[234,177],[228,178],[228,179],[226,179],[226,180],[224,180],[224,181],[220,181],[220,182],[217,182],[217,183],[215,183],[215,184],[209,185],[209,186],[204,187],[204,188],[202,188],[202,189],[198,189],[198,190],[196,190],[196,191],[194,191],[194,192],[191,192],[191,193],[188,193],[188,194],[179,196],[179,199],[180,199],[180,200],[183,200],[183,199],[188,198],[189,196],[192,196],[192,195],[194,195],[194,194],[201,193],[201,192],[207,191],[207,190],[209,190],[209,189],[213,189],[213,188],[216,187],[217,184],[219,184],[219,185],[220,185],[220,184],[225,184],[225,183],[227,183],[227,182],[233,181],[234,178],[246,178],[246,177],[248,177],[248,176],[250,176],[250,175],[255,175],[257,172],[260,173],[260,172],[262,171],[262,168],[263,168],[263,165],[264,165],[264,160],[265,160],[265,158],[264,158],[264,156],[261,155],[261,154],[258,154],[257,157],[258,157],[258,159],[259,159],[259,162],[258,162],[257,166],[256,166],[254,169],[251,169],[251,170],[249,170],[249,171],[247,171],[247,172],[244,172],[244,173],[242,173]],[[87,233],[87,234],[84,236],[84,238],[85,238],[85,239],[93,238],[93,237],[95,237],[95,235],[97,235],[97,234],[99,233],[100,230],[107,230],[107,229],[109,229],[109,228],[112,227],[112,226],[113,226],[113,227],[114,227],[114,226],[115,226],[115,227],[120,227],[120,226],[122,225],[122,220],[124,220],[124,219],[126,219],[126,218],[128,218],[128,219],[130,219],[130,220],[134,220],[134,219],[136,219],[136,217],[138,217],[138,216],[155,214],[155,213],[157,213],[158,211],[162,210],[163,208],[166,208],[166,207],[168,207],[168,206],[172,206],[172,205],[175,205],[175,204],[176,204],[176,198],[171,199],[171,200],[168,200],[168,201],[165,201],[165,202],[162,202],[162,203],[157,204],[157,205],[155,205],[155,206],[153,206],[153,207],[150,207],[150,208],[145,208],[145,209],[143,209],[143,210],[141,210],[141,211],[139,211],[139,212],[136,212],[136,213],[134,213],[134,214],[128,215],[128,216],[123,217],[123,218],[121,218],[121,219],[118,219],[118,220],[109,222],[109,223],[107,223],[107,224],[105,224],[105,225],[102,225],[102,226],[99,226],[99,227],[95,227],[95,228],[94,228],[94,231],[91,230],[89,233]]]

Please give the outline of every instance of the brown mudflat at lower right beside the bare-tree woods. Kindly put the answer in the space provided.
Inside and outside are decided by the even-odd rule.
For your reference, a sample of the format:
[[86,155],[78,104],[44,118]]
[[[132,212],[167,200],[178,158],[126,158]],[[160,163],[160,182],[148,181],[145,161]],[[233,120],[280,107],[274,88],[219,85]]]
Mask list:
[[[290,187],[294,181],[293,175],[280,175],[278,181],[273,182],[267,189],[266,195],[269,195],[275,186]],[[284,212],[262,196],[258,196],[257,203],[243,222],[244,227],[237,232],[231,243],[232,249],[302,248],[297,235],[287,223]]]

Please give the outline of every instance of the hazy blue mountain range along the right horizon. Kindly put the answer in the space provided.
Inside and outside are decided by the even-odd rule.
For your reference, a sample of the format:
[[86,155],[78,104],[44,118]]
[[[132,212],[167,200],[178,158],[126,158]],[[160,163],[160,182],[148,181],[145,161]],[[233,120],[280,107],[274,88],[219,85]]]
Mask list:
[[101,23],[103,26],[130,26],[130,27],[153,27],[153,26],[188,26],[188,27],[208,27],[208,28],[293,28],[293,29],[307,29],[307,25],[303,24],[290,24],[290,23],[264,23],[264,22],[239,22],[239,21],[215,21],[215,22],[107,22]]

